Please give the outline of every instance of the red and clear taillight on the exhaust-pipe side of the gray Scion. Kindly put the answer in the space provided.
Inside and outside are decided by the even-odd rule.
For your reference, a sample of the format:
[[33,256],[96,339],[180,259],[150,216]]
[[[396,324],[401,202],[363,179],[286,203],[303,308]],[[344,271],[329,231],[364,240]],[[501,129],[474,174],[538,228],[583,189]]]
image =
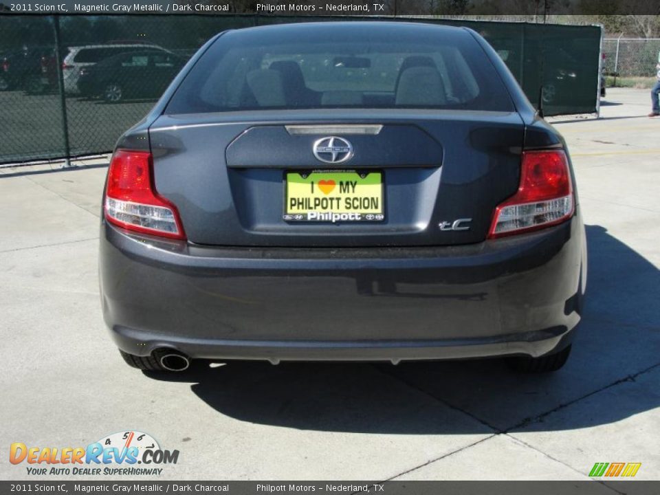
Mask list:
[[186,239],[177,208],[155,189],[151,153],[115,151],[104,206],[107,221],[122,228]]

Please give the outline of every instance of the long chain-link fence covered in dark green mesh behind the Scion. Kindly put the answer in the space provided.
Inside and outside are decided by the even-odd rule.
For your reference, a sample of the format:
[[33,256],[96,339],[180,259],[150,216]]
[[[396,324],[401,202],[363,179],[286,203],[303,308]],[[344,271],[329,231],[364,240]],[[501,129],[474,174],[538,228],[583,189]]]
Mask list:
[[[338,19],[0,15],[0,164],[112,151],[217,32],[332,20]],[[532,102],[538,102],[544,85],[547,115],[596,111],[599,27],[419,20],[480,32]]]

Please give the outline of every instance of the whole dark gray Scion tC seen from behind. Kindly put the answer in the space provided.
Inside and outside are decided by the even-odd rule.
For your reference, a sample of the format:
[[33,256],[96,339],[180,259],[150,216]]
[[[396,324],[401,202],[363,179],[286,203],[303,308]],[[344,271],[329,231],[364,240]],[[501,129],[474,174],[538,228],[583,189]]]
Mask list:
[[223,32],[118,141],[100,285],[124,359],[559,369],[586,245],[566,145],[463,28]]

